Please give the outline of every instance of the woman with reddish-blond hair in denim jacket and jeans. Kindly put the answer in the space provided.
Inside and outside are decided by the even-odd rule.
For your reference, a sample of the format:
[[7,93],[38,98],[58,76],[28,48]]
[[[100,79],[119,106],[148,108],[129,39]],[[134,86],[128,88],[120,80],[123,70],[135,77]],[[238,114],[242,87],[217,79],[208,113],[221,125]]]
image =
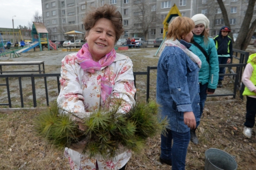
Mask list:
[[167,134],[161,135],[160,162],[172,169],[185,169],[190,129],[200,112],[198,72],[201,60],[189,49],[194,22],[176,17],[169,25],[165,49],[157,66],[159,115],[167,117]]

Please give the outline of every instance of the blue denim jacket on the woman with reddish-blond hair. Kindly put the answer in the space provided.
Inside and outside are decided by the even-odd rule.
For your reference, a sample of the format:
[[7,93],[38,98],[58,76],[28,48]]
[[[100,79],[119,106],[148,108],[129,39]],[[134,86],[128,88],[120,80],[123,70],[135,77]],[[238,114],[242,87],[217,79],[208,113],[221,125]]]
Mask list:
[[[187,48],[191,44],[181,40]],[[176,132],[188,132],[184,124],[184,112],[200,112],[199,67],[181,48],[166,46],[157,66],[157,94],[162,118],[169,120],[169,129]],[[196,122],[200,117],[196,117]]]

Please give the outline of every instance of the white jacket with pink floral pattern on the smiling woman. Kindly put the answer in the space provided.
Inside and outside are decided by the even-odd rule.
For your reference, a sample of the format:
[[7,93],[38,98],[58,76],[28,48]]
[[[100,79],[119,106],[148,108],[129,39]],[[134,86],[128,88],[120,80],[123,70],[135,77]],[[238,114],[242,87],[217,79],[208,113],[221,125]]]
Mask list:
[[[135,104],[134,77],[132,60],[118,54],[114,62],[96,70],[94,73],[85,72],[76,60],[76,53],[66,55],[62,59],[61,67],[61,91],[57,98],[60,108],[74,113],[83,118],[99,108],[111,108],[115,98],[122,99],[125,104],[120,108],[121,113],[126,113]],[[101,76],[112,83],[113,90],[109,100],[105,102],[100,98]],[[72,149],[65,149],[72,169],[94,169],[96,159],[89,159],[86,154],[80,154]],[[126,151],[114,157],[112,160],[97,159],[99,169],[120,169],[131,157],[131,152]]]

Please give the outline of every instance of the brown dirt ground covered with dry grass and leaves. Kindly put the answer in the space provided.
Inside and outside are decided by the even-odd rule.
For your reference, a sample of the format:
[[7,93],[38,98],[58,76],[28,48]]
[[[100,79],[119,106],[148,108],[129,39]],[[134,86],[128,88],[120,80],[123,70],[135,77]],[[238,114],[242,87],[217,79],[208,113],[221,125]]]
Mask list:
[[[250,53],[256,53],[253,47]],[[120,51],[133,60],[134,71],[146,71],[147,66],[156,66],[158,58],[154,57],[156,48]],[[4,58],[6,60],[45,60],[46,72],[60,71],[60,60],[65,52],[29,52],[20,58]],[[60,53],[60,54],[59,54]],[[41,57],[40,57],[41,56]],[[144,57],[145,56],[145,57]],[[3,57],[0,60],[4,60]],[[54,60],[54,61],[53,61]],[[56,63],[55,63],[56,62]],[[16,68],[17,69],[17,68]],[[155,99],[156,72],[152,71],[150,81],[150,99]],[[137,100],[144,100],[146,93],[145,76],[137,78]],[[228,88],[230,78],[225,77],[224,87]],[[4,93],[3,91],[0,92]],[[53,94],[53,96],[56,94]],[[232,103],[224,101],[228,98],[211,98],[209,101],[223,101],[218,104],[207,104],[197,129],[200,143],[190,143],[188,147],[186,169],[204,169],[205,151],[210,148],[221,149],[232,156],[238,164],[237,169],[256,169],[256,137],[254,127],[251,139],[242,134],[246,114],[246,99],[235,99]],[[217,102],[216,102],[217,103]],[[45,105],[44,105],[45,106]],[[63,151],[40,139],[33,130],[33,121],[39,112],[18,111],[0,114],[0,169],[69,169],[68,160]],[[126,169],[171,169],[159,162],[160,136],[148,139],[144,152],[133,155]]]

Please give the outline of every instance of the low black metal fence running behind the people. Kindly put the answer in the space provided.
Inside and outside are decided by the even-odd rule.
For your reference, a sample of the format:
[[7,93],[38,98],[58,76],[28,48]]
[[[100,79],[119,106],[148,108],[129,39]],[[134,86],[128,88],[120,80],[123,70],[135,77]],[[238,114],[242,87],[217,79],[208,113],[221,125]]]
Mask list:
[[[232,96],[233,98],[236,97],[236,93],[237,93],[237,89],[240,91],[240,98],[242,99],[242,92],[245,88],[245,86],[241,83],[241,76],[242,76],[242,71],[246,66],[246,62],[248,60],[249,57],[249,53],[248,52],[244,52],[244,51],[239,51],[234,49],[234,56],[232,58],[232,62],[234,62],[235,59],[239,60],[238,64],[222,64],[219,65],[219,67],[228,67],[229,72],[228,74],[220,74],[220,76],[232,76],[232,78],[234,79],[234,89],[233,89],[233,93],[230,94],[212,94],[212,95],[208,95],[208,96]],[[239,55],[239,56],[238,56]],[[235,69],[234,69],[235,68]],[[150,70],[156,70],[157,67],[147,67],[147,71],[146,72],[134,72],[134,84],[136,87],[136,76],[137,75],[146,75],[147,79],[146,79],[146,101],[148,101],[149,96],[150,96]],[[37,94],[36,94],[36,82],[35,82],[35,78],[43,78],[43,82],[44,82],[44,89],[45,89],[45,101],[46,104],[49,106],[49,94],[48,94],[48,80],[51,79],[55,79],[56,78],[56,84],[57,84],[57,92],[60,93],[60,76],[61,74],[16,74],[16,75],[0,75],[0,79],[3,80],[3,78],[5,79],[5,83],[0,84],[0,86],[6,86],[6,90],[7,90],[7,98],[8,98],[8,103],[0,103],[0,105],[7,105],[9,106],[9,108],[12,107],[11,105],[11,92],[10,92],[10,83],[9,83],[9,79],[11,78],[18,78],[18,83],[19,83],[19,95],[20,95],[20,105],[23,108],[24,107],[24,98],[23,98],[23,91],[22,91],[22,79],[21,78],[30,78],[31,79],[31,90],[32,90],[32,100],[33,100],[33,107],[37,107]],[[26,80],[28,81],[28,80]],[[15,91],[17,93],[17,91]],[[135,100],[136,100],[136,94],[135,94]]]

